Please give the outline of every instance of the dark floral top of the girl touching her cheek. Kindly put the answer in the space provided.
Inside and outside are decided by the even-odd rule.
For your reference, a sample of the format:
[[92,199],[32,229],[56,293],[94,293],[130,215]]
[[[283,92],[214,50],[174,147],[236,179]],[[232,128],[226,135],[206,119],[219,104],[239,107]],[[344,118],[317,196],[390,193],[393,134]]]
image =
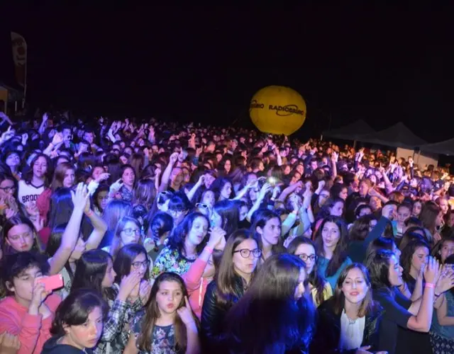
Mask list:
[[[142,333],[142,320],[145,317],[145,312],[139,312],[134,316],[131,322],[131,331],[135,338],[138,338]],[[151,338],[151,350],[149,352],[140,350],[140,354],[183,354],[184,350],[179,350],[175,346],[175,331],[174,325],[170,326],[154,326],[153,335]]]

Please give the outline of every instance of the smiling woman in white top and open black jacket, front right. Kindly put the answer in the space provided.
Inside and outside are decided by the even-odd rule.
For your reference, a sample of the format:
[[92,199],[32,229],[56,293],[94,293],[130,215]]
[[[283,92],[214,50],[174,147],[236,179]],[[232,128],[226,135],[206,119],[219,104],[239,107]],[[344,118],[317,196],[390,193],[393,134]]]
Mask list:
[[331,299],[319,307],[314,353],[386,353],[380,350],[382,308],[372,299],[369,275],[364,265],[345,268]]

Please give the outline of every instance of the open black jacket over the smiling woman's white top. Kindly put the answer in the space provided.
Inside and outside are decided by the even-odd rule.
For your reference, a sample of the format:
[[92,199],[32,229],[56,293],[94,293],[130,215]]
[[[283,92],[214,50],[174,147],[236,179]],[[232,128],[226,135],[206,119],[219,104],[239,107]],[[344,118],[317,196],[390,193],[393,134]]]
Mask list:
[[[353,350],[339,350],[341,339],[341,315],[333,312],[334,297],[326,300],[320,305],[319,321],[317,323],[316,335],[311,343],[310,353],[355,353]],[[370,351],[374,353],[378,348],[379,329],[382,321],[383,309],[377,305],[375,312],[367,314],[365,318],[364,333],[361,346],[371,346]]]

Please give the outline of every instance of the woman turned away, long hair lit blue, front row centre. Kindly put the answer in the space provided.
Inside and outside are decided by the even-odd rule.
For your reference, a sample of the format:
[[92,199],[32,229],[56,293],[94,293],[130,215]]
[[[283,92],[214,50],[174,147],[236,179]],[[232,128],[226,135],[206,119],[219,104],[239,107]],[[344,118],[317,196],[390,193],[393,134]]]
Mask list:
[[226,348],[231,353],[306,353],[314,307],[304,297],[305,285],[301,259],[285,253],[267,258],[226,316]]

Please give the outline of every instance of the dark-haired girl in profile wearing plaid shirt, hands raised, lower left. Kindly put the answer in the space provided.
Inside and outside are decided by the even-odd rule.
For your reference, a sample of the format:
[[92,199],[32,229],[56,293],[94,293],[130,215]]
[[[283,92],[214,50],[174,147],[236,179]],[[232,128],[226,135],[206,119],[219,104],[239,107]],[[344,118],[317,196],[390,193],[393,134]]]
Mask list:
[[104,330],[99,343],[96,345],[96,353],[115,353],[120,350],[118,342],[121,341],[121,331],[128,323],[124,323],[123,316],[128,309],[128,297],[140,283],[140,273],[137,270],[123,277],[118,294],[115,296],[114,285],[116,273],[112,257],[106,251],[93,249],[82,254],[77,263],[77,270],[72,282],[72,290],[92,289],[101,294],[109,304],[109,314],[104,321]]

